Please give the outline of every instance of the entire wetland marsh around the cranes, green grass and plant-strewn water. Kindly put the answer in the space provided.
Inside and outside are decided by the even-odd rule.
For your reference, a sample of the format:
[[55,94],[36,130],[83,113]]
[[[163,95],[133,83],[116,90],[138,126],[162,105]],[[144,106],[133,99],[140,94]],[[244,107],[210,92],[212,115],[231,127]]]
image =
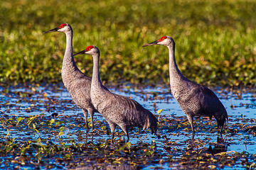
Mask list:
[[[255,8],[252,0],[1,1],[0,169],[256,169]],[[154,113],[157,135],[134,128],[125,143],[117,128],[112,142],[99,113],[86,132],[61,83],[65,35],[43,35],[60,23],[73,27],[74,52],[100,48],[103,84]],[[168,50],[142,48],[163,35],[176,41],[181,73],[223,102],[222,137],[214,119],[200,118],[191,140],[170,94]],[[91,77],[91,57],[75,62]]]

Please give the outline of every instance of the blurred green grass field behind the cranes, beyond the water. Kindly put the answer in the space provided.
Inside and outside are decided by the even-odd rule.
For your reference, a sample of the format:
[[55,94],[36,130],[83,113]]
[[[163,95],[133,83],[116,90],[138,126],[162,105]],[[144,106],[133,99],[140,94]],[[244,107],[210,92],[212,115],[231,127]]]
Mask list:
[[[60,82],[65,35],[43,31],[70,23],[74,52],[101,51],[101,77],[110,84],[169,82],[168,51],[142,48],[170,35],[184,76],[200,84],[256,84],[256,1],[1,1],[0,81]],[[91,76],[92,58],[75,57]]]

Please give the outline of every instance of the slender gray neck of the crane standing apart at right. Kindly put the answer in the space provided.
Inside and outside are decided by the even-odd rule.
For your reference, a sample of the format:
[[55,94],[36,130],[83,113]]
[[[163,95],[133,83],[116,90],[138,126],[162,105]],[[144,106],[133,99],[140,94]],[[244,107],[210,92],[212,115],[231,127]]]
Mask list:
[[181,71],[178,69],[176,60],[175,60],[175,44],[171,43],[167,45],[169,49],[169,74],[170,81],[173,81],[175,78],[183,77]]

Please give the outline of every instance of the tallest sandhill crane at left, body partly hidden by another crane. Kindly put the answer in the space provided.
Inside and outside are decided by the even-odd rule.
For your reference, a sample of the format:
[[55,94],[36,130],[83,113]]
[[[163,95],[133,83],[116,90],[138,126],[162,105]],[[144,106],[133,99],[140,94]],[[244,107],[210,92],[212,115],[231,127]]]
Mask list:
[[87,112],[89,112],[92,119],[93,130],[93,115],[97,111],[93,107],[92,101],[90,99],[90,86],[92,79],[85,76],[85,74],[83,74],[75,64],[75,60],[73,57],[73,29],[68,23],[63,23],[60,24],[60,26],[58,26],[57,28],[53,28],[52,30],[48,30],[44,33],[51,33],[55,31],[65,33],[66,35],[65,55],[63,58],[63,67],[61,69],[61,76],[64,86],[66,89],[68,89],[68,92],[73,98],[75,104],[82,109],[82,113],[83,115],[85,115],[87,130]]

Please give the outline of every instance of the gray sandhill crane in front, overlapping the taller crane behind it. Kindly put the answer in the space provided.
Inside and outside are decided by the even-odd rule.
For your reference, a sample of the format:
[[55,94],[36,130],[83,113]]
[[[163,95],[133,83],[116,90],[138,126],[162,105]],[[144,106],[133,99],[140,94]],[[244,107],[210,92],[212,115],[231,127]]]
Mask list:
[[99,60],[100,50],[95,46],[88,46],[86,50],[75,55],[92,55],[93,71],[90,96],[92,104],[102,116],[107,120],[114,138],[114,129],[116,125],[124,131],[129,141],[128,128],[138,126],[139,128],[151,128],[151,132],[156,134],[157,119],[154,115],[143,108],[137,101],[131,98],[112,94],[100,81]]

